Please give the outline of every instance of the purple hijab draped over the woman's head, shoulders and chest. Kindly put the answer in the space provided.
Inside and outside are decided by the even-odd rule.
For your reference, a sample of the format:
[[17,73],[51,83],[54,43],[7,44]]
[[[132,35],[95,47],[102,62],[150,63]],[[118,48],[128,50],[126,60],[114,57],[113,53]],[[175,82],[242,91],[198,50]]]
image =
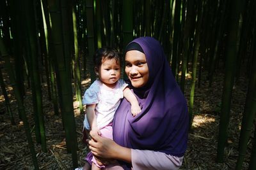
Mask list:
[[181,157],[188,141],[186,99],[173,77],[159,41],[141,37],[132,42],[138,43],[145,53],[149,79],[145,87],[134,88],[131,85],[142,108],[141,113],[132,117],[131,104],[123,99],[113,120],[113,139],[127,148]]

